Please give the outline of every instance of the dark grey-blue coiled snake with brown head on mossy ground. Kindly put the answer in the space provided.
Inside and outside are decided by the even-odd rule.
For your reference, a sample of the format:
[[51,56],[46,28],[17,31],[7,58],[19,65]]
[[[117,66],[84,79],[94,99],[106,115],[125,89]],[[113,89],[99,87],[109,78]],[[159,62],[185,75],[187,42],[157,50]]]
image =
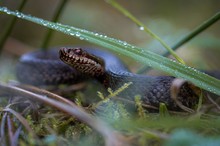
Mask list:
[[[113,91],[131,83],[118,96],[134,100],[139,95],[144,104],[159,107],[164,103],[169,110],[181,110],[171,95],[175,77],[132,73],[117,56],[97,48],[61,47],[26,53],[17,64],[16,76],[20,82],[35,86],[74,84],[94,78]],[[199,100],[189,82],[181,85],[177,99],[189,108]]]

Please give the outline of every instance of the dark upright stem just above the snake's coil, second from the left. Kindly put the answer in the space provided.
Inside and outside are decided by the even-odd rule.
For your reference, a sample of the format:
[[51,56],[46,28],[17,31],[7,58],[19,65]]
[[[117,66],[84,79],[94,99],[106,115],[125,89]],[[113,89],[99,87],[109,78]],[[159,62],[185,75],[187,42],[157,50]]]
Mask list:
[[[57,22],[61,16],[62,11],[64,10],[64,7],[66,5],[66,3],[68,2],[68,0],[62,0],[61,3],[59,4],[56,12],[54,13],[54,16],[52,18],[52,22]],[[47,33],[43,39],[43,43],[41,45],[42,50],[45,50],[48,48],[49,42],[52,38],[52,35],[54,33],[54,30],[52,29],[48,29]]]

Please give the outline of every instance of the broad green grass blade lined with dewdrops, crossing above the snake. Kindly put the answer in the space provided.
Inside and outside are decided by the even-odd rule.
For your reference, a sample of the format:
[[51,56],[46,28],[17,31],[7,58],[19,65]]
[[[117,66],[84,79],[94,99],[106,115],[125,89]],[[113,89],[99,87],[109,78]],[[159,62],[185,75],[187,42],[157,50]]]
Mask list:
[[198,87],[208,90],[212,93],[220,95],[220,80],[215,79],[207,74],[204,74],[194,68],[188,67],[184,64],[175,62],[163,56],[157,55],[151,51],[144,51],[141,48],[130,45],[127,42],[117,40],[114,38],[100,35],[84,29],[63,25],[60,23],[53,23],[30,15],[25,15],[18,11],[11,11],[6,7],[0,7],[0,12],[8,15],[13,15],[21,19],[25,19],[36,24],[54,29],[65,34],[77,37],[99,46],[111,49],[118,53],[129,56],[143,64],[149,65],[155,69],[162,70],[175,77],[186,79]]

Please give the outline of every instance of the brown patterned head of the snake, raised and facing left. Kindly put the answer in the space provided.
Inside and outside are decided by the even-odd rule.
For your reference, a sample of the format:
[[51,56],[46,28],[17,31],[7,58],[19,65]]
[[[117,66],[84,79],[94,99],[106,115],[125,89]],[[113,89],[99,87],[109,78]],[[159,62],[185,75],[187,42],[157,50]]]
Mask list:
[[105,67],[103,60],[82,48],[61,48],[59,55],[64,63],[81,73],[90,76],[100,76],[104,74]]

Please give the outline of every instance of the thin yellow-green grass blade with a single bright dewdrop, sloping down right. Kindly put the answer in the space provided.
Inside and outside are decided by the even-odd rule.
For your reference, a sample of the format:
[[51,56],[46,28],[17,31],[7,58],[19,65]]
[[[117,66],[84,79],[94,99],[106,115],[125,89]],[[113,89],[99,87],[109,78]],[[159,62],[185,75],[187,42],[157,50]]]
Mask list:
[[129,19],[131,19],[137,26],[140,28],[140,30],[145,31],[148,33],[151,37],[153,37],[155,40],[160,42],[164,48],[169,51],[169,53],[176,58],[180,63],[185,64],[182,58],[180,58],[159,36],[157,36],[155,33],[153,33],[146,25],[141,23],[135,16],[133,16],[130,12],[128,12],[125,8],[123,8],[119,3],[117,3],[115,0],[106,0],[107,3],[109,3],[111,6],[115,7],[118,11],[120,11],[122,14],[127,16]]

